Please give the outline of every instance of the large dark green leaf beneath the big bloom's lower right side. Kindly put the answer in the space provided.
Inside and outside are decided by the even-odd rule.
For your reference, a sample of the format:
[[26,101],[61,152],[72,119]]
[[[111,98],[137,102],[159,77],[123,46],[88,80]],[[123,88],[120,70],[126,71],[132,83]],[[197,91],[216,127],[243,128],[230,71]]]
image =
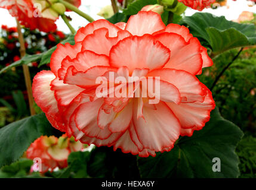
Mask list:
[[[138,158],[142,178],[237,178],[236,145],[242,131],[220,116],[218,108],[211,119],[192,137],[181,137],[174,148],[156,157]],[[213,172],[212,159],[220,158],[221,172]]]

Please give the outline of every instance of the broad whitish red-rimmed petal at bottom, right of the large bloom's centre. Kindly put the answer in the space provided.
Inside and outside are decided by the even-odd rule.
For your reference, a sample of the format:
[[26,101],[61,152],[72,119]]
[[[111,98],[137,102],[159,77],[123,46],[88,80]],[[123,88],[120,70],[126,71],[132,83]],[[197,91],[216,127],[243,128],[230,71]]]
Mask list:
[[172,147],[180,136],[180,122],[165,103],[159,102],[156,110],[144,107],[143,118],[137,119],[134,111],[133,123],[138,140],[144,148],[162,151]]

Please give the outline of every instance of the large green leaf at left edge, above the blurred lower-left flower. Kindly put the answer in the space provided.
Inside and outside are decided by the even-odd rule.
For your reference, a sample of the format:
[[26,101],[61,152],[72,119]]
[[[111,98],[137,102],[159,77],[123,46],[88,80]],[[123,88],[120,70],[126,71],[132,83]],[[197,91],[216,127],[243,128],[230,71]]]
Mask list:
[[44,113],[4,126],[0,129],[0,167],[15,162],[36,138],[54,131]]

